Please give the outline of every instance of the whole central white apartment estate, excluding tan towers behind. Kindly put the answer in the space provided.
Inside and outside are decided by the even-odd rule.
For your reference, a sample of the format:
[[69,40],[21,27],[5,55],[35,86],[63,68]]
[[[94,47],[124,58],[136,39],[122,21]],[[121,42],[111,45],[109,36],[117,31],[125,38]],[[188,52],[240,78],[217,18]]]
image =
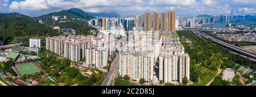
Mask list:
[[159,81],[175,84],[183,83],[184,77],[189,80],[189,56],[173,36],[152,31],[130,33],[119,56],[120,76],[151,82],[156,74]]

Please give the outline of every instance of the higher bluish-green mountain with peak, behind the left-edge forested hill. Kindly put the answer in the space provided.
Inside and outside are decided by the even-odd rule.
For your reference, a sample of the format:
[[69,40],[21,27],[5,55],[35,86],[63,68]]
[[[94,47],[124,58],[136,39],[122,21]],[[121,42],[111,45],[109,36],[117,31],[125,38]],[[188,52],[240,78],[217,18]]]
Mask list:
[[[53,20],[52,16],[60,16],[60,18],[58,20]],[[64,16],[66,16],[67,19],[63,19]],[[86,12],[80,10],[79,8],[71,8],[69,10],[62,10],[35,17],[37,20],[42,20],[42,22],[48,25],[48,27],[60,27],[60,29],[71,28],[76,30],[76,34],[83,35],[91,34],[90,30],[97,30],[96,28],[90,27],[86,22],[86,20],[91,20],[94,18],[96,17],[86,14]]]

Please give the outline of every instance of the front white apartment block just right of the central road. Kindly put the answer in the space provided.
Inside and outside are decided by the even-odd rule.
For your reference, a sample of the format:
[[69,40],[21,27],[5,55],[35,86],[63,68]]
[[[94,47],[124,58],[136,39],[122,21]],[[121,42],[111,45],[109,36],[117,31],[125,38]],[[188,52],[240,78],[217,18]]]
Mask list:
[[154,72],[153,66],[155,64],[152,55],[122,51],[119,56],[119,63],[121,77],[127,74],[131,80],[143,78],[147,82],[152,81]]

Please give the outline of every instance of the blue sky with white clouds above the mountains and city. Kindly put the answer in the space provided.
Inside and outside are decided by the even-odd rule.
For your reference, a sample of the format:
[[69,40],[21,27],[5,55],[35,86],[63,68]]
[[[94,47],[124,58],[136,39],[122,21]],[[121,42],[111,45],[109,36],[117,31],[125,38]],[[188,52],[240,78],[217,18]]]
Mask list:
[[69,8],[85,12],[117,12],[122,16],[175,10],[177,15],[235,15],[256,13],[256,0],[0,0],[1,12],[40,16]]

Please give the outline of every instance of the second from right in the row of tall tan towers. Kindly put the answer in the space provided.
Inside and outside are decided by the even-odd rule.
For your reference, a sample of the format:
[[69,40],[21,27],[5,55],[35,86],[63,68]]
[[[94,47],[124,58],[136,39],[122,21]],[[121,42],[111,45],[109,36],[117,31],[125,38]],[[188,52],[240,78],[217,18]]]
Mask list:
[[167,31],[167,14],[161,13],[160,15],[160,30]]

